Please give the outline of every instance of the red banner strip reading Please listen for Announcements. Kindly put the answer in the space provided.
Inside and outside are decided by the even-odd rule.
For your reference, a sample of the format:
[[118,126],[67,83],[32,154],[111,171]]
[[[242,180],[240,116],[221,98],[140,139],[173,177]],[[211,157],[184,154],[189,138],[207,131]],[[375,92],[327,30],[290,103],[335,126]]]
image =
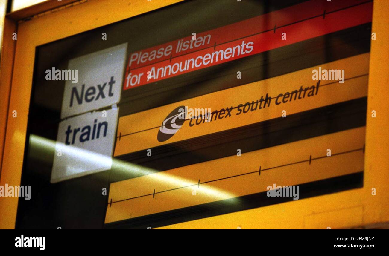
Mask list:
[[[196,35],[196,40],[187,37],[143,50],[142,53],[130,54],[123,89],[175,77],[371,22],[372,2],[345,0],[329,3],[331,2],[320,1],[319,3],[317,0],[304,2],[199,33]],[[261,32],[256,33],[256,31]],[[231,40],[231,37],[239,39]],[[286,40],[282,40],[283,38]],[[185,44],[186,41],[189,43]],[[190,49],[190,46],[193,48]],[[152,51],[156,52],[156,57],[161,54],[162,57],[149,61],[152,58]],[[163,56],[165,53],[168,56]],[[138,54],[137,59],[134,54]]]

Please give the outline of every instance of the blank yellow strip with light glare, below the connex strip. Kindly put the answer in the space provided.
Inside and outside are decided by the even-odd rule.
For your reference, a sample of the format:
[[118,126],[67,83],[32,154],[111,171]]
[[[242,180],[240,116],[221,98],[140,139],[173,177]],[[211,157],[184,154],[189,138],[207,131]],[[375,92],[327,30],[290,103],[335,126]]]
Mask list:
[[112,183],[105,222],[363,171],[364,133],[360,127]]

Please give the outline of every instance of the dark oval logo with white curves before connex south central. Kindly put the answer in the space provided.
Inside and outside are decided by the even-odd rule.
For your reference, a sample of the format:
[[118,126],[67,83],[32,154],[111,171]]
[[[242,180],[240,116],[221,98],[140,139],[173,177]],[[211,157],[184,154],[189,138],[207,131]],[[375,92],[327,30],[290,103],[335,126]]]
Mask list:
[[163,120],[161,127],[159,127],[157,139],[159,142],[166,141],[173,137],[173,135],[181,128],[185,122],[186,108],[179,106]]

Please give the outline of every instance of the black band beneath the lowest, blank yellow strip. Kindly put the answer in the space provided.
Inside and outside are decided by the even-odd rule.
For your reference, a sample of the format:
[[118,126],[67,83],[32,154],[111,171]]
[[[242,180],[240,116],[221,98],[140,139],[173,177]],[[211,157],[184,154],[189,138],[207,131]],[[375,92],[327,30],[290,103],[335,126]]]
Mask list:
[[[329,193],[342,192],[354,188],[363,187],[363,169],[352,174],[336,176],[332,178],[310,181],[307,183],[293,184],[300,187],[301,199],[326,195]],[[231,212],[244,211],[253,208],[275,205],[293,201],[292,197],[267,197],[267,191],[239,196],[231,199],[217,200],[205,204],[198,204],[189,207],[173,209],[170,211],[158,212],[138,216],[120,221],[105,223],[105,229],[145,229],[148,226],[153,228],[168,226],[182,221],[209,218]]]

